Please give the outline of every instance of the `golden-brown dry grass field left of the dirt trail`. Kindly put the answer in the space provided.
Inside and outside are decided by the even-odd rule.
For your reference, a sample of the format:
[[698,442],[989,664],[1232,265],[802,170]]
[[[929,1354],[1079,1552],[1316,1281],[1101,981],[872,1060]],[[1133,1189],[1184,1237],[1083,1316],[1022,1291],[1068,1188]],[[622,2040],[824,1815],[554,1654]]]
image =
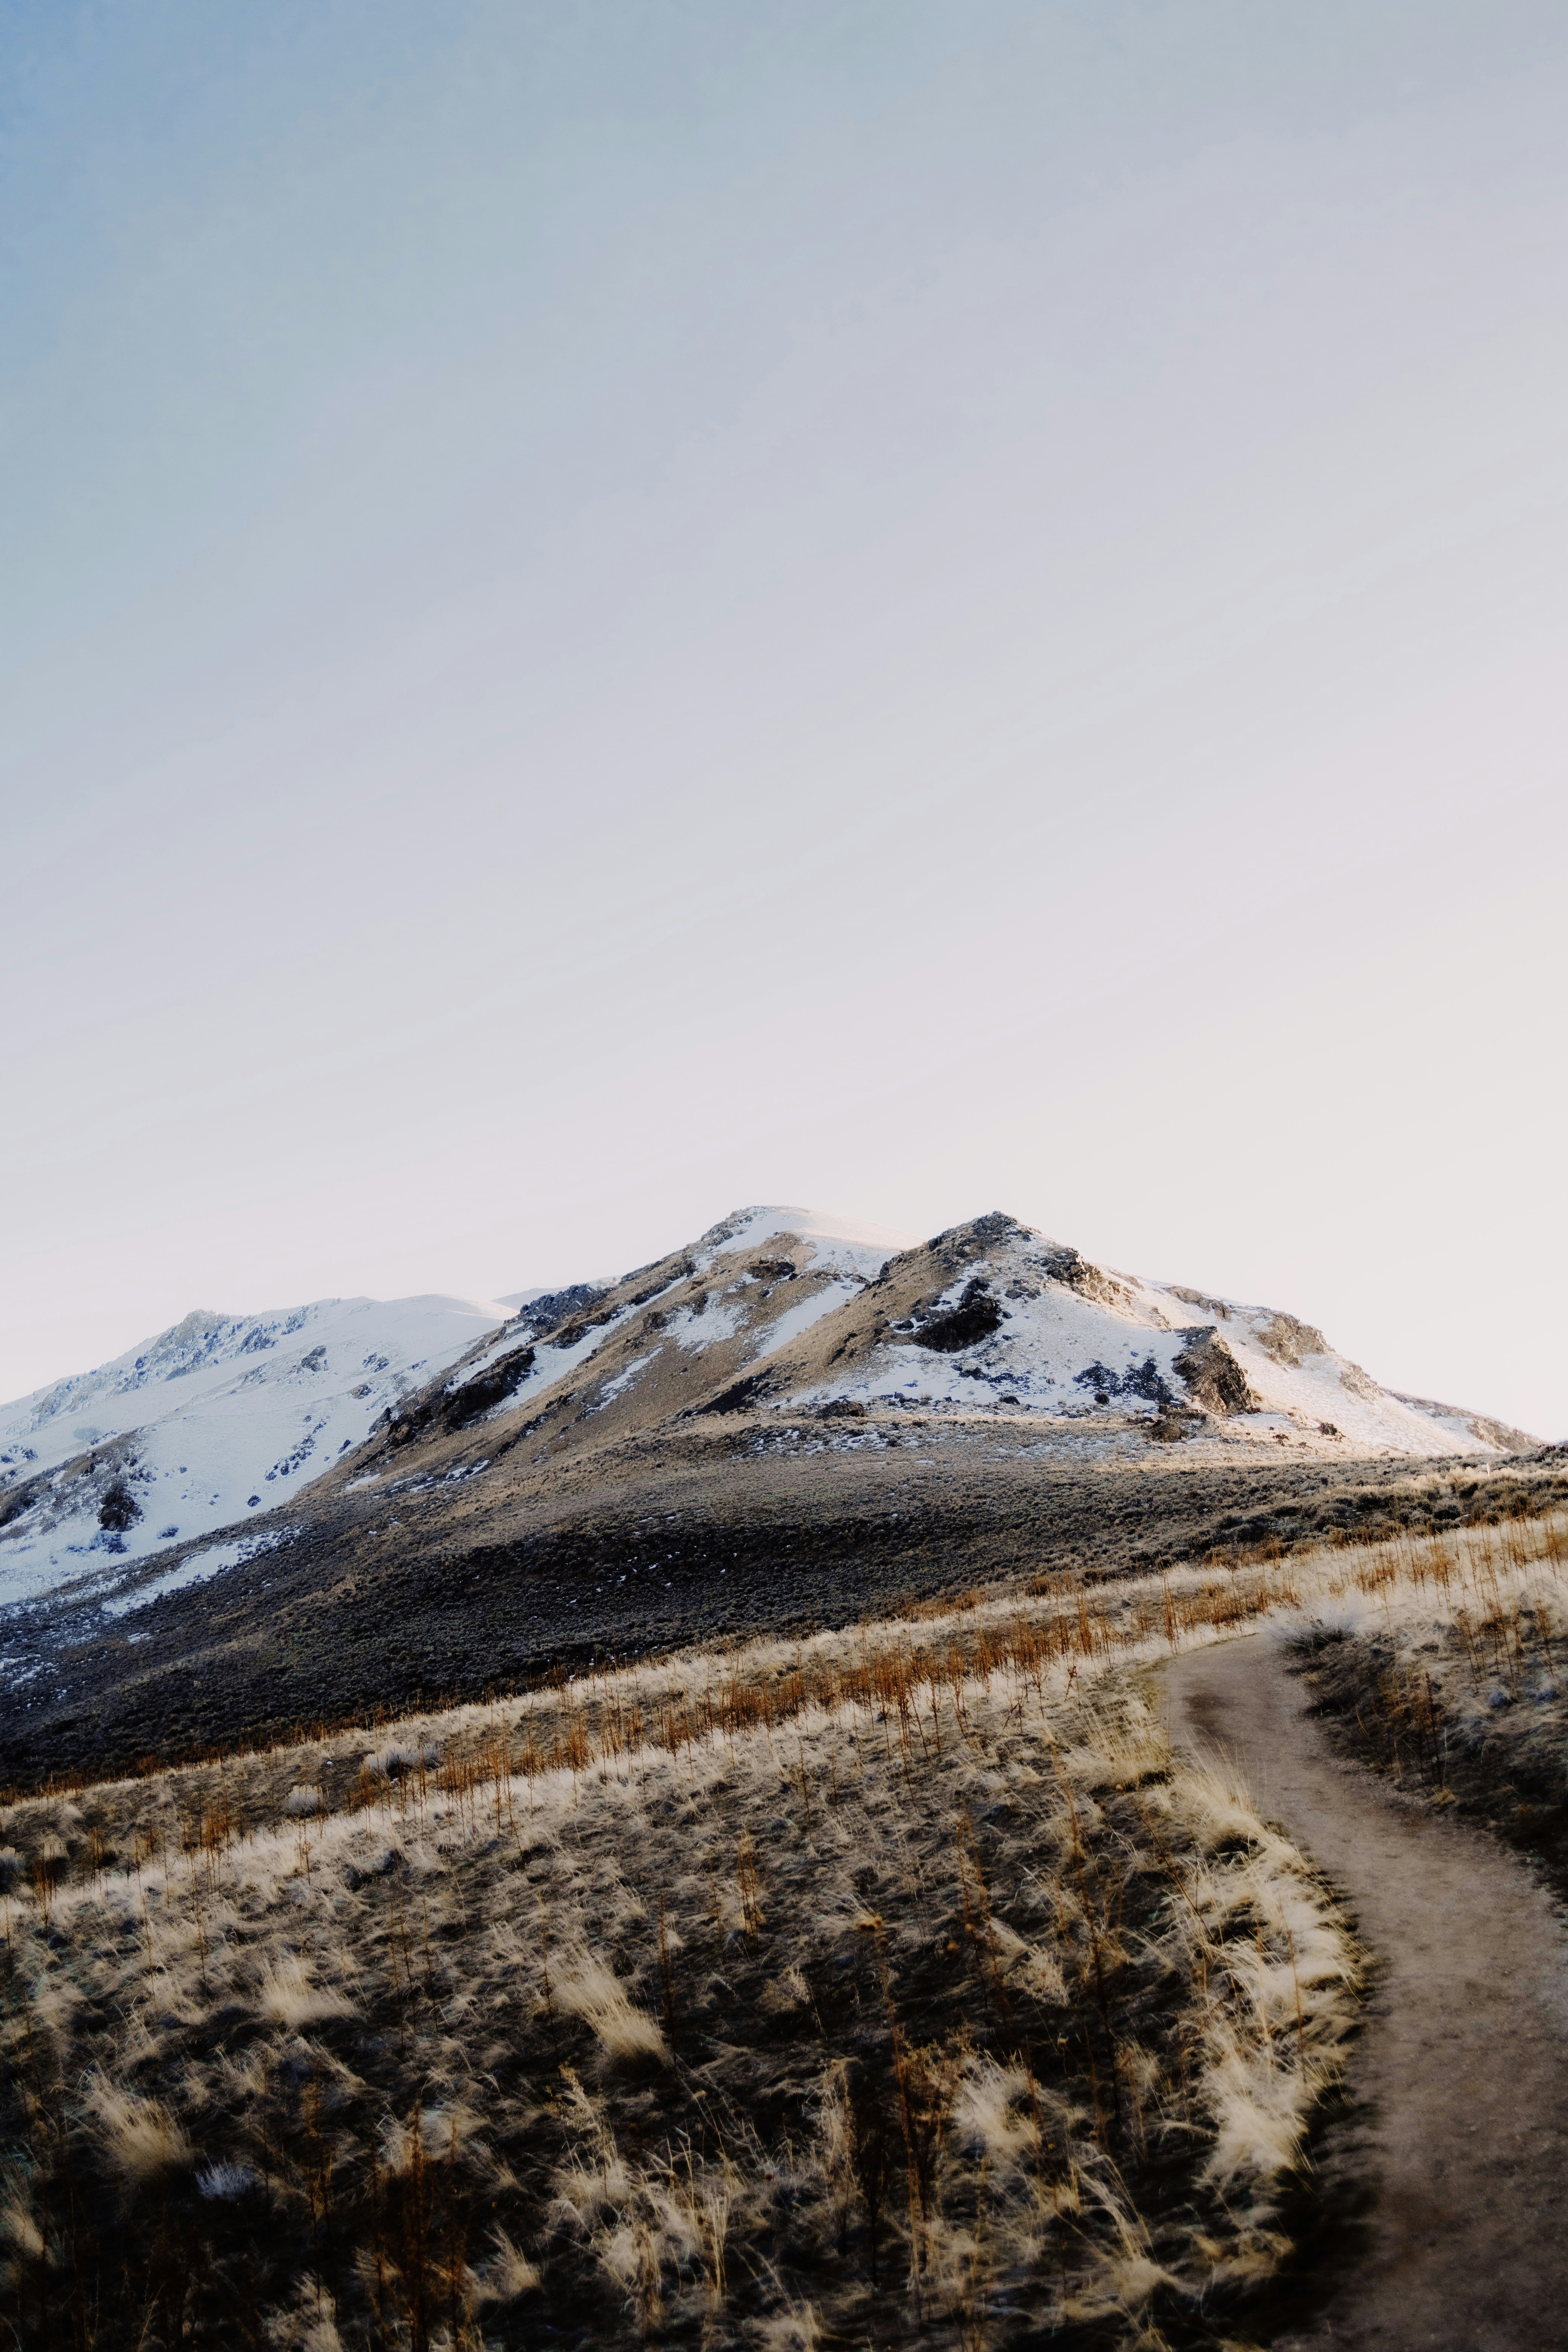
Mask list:
[[16,2340],[1234,2336],[1356,1955],[1140,1675],[1443,1576],[1528,1665],[1561,1564],[1041,1585],[5,1809]]

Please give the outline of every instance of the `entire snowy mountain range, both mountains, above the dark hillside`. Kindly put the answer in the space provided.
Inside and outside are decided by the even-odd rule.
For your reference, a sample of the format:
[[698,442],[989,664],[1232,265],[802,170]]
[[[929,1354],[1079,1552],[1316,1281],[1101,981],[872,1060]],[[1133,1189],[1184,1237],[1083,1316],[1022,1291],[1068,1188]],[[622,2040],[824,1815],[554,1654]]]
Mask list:
[[[139,1585],[143,1599],[237,1566],[287,1538],[277,1512],[303,1491],[310,1517],[329,1494],[461,1479],[482,1510],[482,1472],[505,1456],[510,1475],[703,1416],[766,1437],[778,1416],[846,1430],[903,1409],[1023,1423],[1041,1456],[1084,1442],[1338,1458],[1535,1444],[1380,1388],[1293,1315],[1110,1272],[1011,1216],[919,1242],[738,1209],[609,1284],[188,1315],[0,1409],[0,1602],[80,1576],[113,1595],[160,1552],[169,1571]],[[226,1543],[209,1543],[219,1531]]]

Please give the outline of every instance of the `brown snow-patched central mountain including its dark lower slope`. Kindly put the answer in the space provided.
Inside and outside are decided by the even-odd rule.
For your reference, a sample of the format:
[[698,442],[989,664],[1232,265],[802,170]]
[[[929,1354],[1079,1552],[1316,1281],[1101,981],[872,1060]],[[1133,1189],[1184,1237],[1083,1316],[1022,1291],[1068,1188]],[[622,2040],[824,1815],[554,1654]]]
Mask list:
[[[0,1771],[1568,1494],[1561,1449],[1434,1418],[1293,1315],[1001,1211],[891,1251],[799,1221],[736,1211],[616,1284],[534,1294],[423,1381],[388,1367],[369,1428],[240,1519],[141,1552],[94,1522],[78,1573],[0,1602]],[[284,1404],[313,1338],[261,1352]],[[12,1491],[0,1555],[73,1477]]]

